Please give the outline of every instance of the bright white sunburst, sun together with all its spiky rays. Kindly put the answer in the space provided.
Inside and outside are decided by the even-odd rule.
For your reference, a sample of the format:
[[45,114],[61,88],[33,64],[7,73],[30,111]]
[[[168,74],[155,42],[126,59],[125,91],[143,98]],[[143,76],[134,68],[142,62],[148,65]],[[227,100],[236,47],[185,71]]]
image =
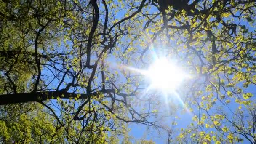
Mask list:
[[186,108],[184,101],[182,101],[182,96],[178,93],[178,91],[181,91],[180,88],[182,83],[191,78],[190,75],[188,75],[184,69],[179,67],[179,63],[164,56],[157,57],[157,53],[153,46],[150,51],[152,61],[150,62],[149,67],[145,69],[125,65],[119,66],[120,69],[127,69],[144,77],[144,83],[148,86],[143,91],[140,91],[139,99],[147,99],[147,94],[158,93],[164,101],[164,104],[167,106],[165,109],[168,112],[173,110],[171,108],[172,105],[170,105],[171,102],[178,107],[182,107],[187,113],[190,113]]

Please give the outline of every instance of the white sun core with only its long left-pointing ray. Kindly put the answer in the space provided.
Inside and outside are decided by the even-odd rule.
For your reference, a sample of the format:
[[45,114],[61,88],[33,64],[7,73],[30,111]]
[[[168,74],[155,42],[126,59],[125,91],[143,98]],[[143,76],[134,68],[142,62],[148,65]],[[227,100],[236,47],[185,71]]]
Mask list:
[[161,57],[155,59],[148,69],[124,68],[144,75],[146,82],[149,83],[147,91],[157,90],[168,94],[176,92],[185,80],[191,78],[179,65],[181,64]]

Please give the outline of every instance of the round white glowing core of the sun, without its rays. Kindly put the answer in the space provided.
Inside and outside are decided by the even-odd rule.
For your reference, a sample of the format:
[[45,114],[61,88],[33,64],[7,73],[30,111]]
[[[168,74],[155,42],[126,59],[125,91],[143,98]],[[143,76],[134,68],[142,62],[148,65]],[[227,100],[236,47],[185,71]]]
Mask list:
[[156,59],[145,76],[149,79],[151,88],[165,92],[176,90],[187,78],[187,74],[167,58]]

